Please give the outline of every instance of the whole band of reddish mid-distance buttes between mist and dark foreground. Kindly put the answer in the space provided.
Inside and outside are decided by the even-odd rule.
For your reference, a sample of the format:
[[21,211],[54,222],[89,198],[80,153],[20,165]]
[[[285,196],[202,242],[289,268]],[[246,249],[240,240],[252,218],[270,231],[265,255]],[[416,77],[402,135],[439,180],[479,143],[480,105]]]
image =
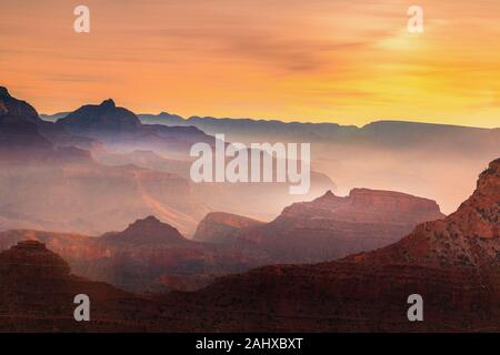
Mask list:
[[397,192],[328,192],[292,204],[273,222],[209,213],[193,240],[154,216],[121,232],[92,237],[34,230],[0,232],[0,250],[40,241],[77,275],[138,292],[196,291],[217,276],[277,263],[312,263],[373,250],[400,240],[417,224],[442,217],[436,202]]

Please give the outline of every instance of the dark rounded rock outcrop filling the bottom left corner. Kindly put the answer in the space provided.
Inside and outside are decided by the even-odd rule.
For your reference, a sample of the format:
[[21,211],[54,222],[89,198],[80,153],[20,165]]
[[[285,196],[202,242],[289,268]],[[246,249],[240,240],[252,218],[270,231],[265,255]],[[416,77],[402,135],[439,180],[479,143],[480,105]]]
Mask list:
[[[72,275],[37,241],[0,253],[0,332],[146,332],[158,312],[146,298]],[[91,300],[90,323],[74,321],[78,294]]]

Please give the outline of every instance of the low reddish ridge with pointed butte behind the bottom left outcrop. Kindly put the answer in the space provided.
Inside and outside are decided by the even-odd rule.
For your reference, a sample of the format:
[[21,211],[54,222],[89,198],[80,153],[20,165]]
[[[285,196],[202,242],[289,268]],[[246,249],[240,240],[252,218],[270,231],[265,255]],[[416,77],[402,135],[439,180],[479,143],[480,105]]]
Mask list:
[[99,237],[30,230],[0,232],[0,250],[26,240],[43,243],[62,255],[77,275],[139,293],[194,290],[216,275],[271,262],[254,248],[190,241],[154,216]]

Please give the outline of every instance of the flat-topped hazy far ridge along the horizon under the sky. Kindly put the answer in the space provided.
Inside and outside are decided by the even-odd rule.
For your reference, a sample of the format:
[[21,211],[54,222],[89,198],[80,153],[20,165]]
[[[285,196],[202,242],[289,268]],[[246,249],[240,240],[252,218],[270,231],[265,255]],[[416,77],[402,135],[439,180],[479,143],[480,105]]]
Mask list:
[[[434,151],[459,154],[474,152],[491,156],[500,145],[500,129],[486,129],[440,123],[381,120],[361,128],[332,122],[283,122],[279,120],[191,116],[183,119],[171,113],[139,114],[147,124],[196,126],[207,134],[226,134],[232,142],[313,142],[372,146],[381,149],[412,149],[427,146]],[[460,144],[457,144],[460,142]]]

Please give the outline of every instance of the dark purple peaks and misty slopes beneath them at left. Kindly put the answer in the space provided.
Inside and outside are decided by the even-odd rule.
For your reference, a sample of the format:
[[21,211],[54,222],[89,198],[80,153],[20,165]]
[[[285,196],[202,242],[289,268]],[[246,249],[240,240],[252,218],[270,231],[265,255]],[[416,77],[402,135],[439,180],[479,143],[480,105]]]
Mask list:
[[[284,183],[193,184],[190,146],[214,138],[142,124],[111,99],[49,122],[1,88],[0,108],[0,230],[100,235],[158,215],[190,236],[209,212],[253,211],[267,220],[299,199]],[[310,194],[300,199],[333,186],[311,172]]]

